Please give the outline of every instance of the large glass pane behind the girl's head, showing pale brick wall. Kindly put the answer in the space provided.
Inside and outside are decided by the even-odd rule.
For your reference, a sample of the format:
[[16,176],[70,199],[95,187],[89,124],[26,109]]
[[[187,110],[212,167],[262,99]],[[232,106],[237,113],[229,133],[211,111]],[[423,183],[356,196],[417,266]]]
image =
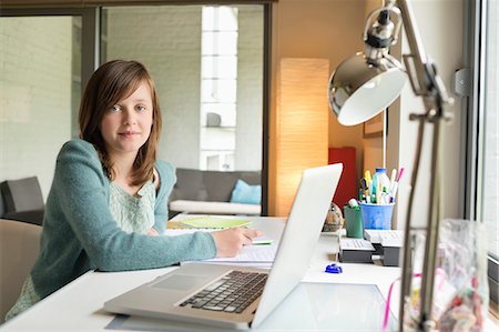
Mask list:
[[263,6],[101,12],[101,62],[138,60],[156,83],[160,159],[177,168],[262,170]]

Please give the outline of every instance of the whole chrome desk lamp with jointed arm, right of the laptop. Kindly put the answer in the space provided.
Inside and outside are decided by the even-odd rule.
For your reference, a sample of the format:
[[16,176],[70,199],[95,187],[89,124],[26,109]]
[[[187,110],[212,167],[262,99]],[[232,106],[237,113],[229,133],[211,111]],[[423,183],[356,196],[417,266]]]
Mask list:
[[[395,19],[395,23],[391,21]],[[389,54],[390,46],[398,39],[400,26],[404,24],[409,54],[403,54],[405,68]],[[411,121],[419,122],[416,158],[411,177],[413,190],[409,195],[407,221],[405,229],[404,265],[400,290],[399,330],[404,330],[405,306],[410,300],[413,276],[413,256],[415,234],[426,233],[420,289],[419,316],[416,324],[419,331],[435,328],[431,316],[432,291],[435,281],[436,253],[440,222],[440,167],[441,167],[441,125],[451,119],[447,108],[452,100],[437,76],[435,64],[427,59],[413,10],[406,0],[387,0],[384,7],[374,10],[364,29],[364,52],[345,60],[339,64],[329,80],[329,107],[344,125],[365,122],[378,114],[400,94],[409,78],[413,91],[421,97],[424,113],[410,114]],[[431,150],[431,178],[428,220],[425,227],[411,224],[414,188],[417,180],[419,158],[422,145],[425,124],[434,127]]]

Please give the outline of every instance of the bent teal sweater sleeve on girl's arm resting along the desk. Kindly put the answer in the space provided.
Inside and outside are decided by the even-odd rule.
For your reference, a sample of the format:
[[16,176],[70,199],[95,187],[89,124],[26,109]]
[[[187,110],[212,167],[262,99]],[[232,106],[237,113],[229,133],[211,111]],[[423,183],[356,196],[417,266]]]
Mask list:
[[216,247],[208,233],[149,237],[123,232],[108,207],[106,181],[90,143],[71,141],[62,148],[54,175],[60,207],[98,269],[152,269],[215,256]]

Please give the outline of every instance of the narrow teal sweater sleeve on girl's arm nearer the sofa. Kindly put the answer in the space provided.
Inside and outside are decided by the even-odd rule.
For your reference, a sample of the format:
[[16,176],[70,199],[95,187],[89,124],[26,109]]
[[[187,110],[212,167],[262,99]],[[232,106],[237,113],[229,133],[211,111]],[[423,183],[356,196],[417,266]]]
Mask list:
[[169,198],[176,182],[176,174],[171,163],[161,160],[156,162],[156,170],[160,174],[160,190],[154,207],[154,229],[162,234],[169,220]]

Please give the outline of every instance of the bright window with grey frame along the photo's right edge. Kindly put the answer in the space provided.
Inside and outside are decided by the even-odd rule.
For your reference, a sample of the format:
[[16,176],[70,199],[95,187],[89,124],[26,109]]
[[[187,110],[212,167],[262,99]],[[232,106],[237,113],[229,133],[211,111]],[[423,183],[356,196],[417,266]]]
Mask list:
[[[470,1],[471,2],[471,1]],[[499,259],[499,2],[472,1],[470,27],[473,27],[473,52],[470,54],[473,94],[470,95],[468,158],[470,181],[468,217],[483,222],[489,254],[491,300],[498,301]],[[476,12],[477,14],[472,14]],[[477,18],[473,21],[473,18]],[[475,151],[475,152],[473,152]],[[473,194],[475,193],[475,194]]]

